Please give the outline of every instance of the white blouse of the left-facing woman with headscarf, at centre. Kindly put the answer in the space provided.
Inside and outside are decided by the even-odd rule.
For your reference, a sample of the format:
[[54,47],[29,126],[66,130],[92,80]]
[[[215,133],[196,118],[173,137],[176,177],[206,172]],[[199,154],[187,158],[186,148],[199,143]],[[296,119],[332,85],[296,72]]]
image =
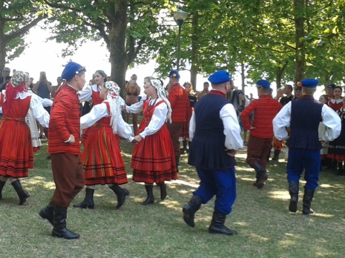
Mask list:
[[[162,100],[161,98],[158,98],[156,103],[161,100]],[[149,105],[153,105],[154,102],[155,100],[151,99],[149,102]],[[143,106],[144,106],[144,101],[141,100],[140,102],[137,102],[130,106],[126,106],[126,111],[127,113],[136,114],[143,111]],[[168,113],[168,107],[165,104],[165,102],[160,103],[158,106],[156,106],[155,110],[153,111],[153,115],[152,115],[149,125],[139,135],[145,139],[146,136],[157,133],[158,130],[164,125],[167,113]]]

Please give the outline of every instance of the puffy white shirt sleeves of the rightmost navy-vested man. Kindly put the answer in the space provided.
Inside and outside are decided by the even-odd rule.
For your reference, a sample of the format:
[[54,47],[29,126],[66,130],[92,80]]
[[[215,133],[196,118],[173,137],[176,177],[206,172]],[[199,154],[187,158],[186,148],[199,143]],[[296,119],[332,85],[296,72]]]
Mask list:
[[[333,141],[340,135],[341,121],[337,113],[329,106],[322,106],[322,122],[327,126],[327,130],[322,137],[324,141]],[[291,101],[287,103],[273,119],[273,133],[275,138],[283,140],[288,137],[285,127],[290,126],[291,121]]]

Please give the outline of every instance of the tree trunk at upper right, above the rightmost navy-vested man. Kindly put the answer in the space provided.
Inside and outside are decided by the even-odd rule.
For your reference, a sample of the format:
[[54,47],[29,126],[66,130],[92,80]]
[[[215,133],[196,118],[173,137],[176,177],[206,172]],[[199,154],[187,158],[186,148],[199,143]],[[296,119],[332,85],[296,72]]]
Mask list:
[[305,49],[304,49],[304,21],[305,5],[304,0],[294,0],[294,19],[295,19],[295,84],[304,78],[305,71]]

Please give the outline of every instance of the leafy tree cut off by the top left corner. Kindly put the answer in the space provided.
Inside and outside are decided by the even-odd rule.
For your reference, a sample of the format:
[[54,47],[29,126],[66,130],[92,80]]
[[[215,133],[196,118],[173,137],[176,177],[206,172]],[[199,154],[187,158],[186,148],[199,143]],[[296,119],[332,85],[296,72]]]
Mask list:
[[27,46],[24,36],[46,17],[46,13],[39,2],[0,0],[0,70],[24,51]]

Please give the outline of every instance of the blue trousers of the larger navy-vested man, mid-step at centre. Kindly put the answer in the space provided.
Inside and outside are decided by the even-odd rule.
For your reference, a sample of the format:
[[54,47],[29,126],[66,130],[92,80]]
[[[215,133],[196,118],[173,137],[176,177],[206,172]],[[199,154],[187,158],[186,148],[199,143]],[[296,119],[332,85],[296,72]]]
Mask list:
[[212,170],[196,168],[200,178],[200,186],[193,193],[198,195],[205,204],[216,195],[215,209],[223,214],[231,212],[236,199],[235,167]]

